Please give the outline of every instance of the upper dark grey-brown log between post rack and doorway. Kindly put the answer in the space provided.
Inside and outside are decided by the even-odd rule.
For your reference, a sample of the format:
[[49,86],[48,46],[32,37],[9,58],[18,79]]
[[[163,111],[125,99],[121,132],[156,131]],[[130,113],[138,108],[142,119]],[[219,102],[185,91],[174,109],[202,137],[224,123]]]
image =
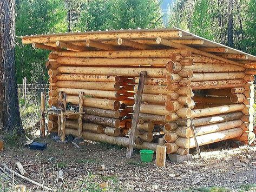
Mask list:
[[116,110],[107,110],[94,107],[84,107],[83,111],[88,115],[96,115],[101,117],[119,118],[120,112]]

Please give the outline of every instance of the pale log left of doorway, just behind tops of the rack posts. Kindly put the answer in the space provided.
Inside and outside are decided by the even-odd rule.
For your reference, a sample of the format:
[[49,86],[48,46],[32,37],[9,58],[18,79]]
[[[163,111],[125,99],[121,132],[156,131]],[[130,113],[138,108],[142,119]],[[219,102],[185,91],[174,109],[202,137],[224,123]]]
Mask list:
[[91,90],[91,89],[74,89],[74,88],[57,88],[56,90],[49,91],[49,97],[58,96],[58,92],[64,91],[68,95],[79,95],[79,92],[83,92],[84,95],[103,97],[103,98],[113,98],[118,99],[120,93],[117,91],[106,91],[106,90]]

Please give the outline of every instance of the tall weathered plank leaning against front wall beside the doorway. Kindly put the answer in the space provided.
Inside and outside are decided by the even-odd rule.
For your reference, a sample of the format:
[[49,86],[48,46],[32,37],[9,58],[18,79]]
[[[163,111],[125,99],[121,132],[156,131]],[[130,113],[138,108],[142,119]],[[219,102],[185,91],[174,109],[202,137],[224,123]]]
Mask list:
[[137,90],[137,96],[134,104],[134,114],[133,114],[133,120],[132,120],[132,128],[130,129],[130,136],[129,136],[129,142],[127,146],[126,151],[126,158],[131,158],[133,153],[133,147],[134,147],[134,140],[135,140],[135,130],[139,121],[139,112],[140,112],[140,105],[142,100],[142,92],[144,89],[144,83],[145,83],[145,77],[147,75],[147,71],[141,71],[140,72],[140,80],[139,80],[139,86]]

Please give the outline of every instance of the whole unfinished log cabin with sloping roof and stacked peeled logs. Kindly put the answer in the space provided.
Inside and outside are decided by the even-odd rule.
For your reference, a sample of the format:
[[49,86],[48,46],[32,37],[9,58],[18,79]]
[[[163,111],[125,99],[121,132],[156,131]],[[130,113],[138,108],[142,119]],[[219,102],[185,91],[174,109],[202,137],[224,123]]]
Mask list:
[[[128,157],[133,146],[155,150],[158,139],[167,154],[181,155],[196,143],[254,144],[252,55],[177,28],[36,35],[22,42],[51,51],[50,107],[61,91],[67,103],[83,100],[83,122],[69,115],[66,135],[129,145]],[[141,71],[147,74],[143,94]],[[58,131],[53,115],[48,130]]]

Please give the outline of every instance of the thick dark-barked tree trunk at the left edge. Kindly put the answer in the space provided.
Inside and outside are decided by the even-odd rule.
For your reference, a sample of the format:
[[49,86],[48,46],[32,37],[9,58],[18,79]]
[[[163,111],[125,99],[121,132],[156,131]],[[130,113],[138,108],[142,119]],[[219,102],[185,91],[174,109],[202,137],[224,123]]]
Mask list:
[[23,134],[15,73],[15,1],[0,1],[0,129]]

